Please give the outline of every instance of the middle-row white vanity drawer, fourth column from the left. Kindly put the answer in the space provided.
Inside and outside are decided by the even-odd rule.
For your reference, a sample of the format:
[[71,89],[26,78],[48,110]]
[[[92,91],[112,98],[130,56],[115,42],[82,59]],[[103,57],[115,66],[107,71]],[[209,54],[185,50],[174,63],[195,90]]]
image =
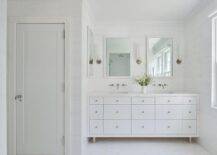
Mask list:
[[181,119],[182,105],[156,105],[156,119]]

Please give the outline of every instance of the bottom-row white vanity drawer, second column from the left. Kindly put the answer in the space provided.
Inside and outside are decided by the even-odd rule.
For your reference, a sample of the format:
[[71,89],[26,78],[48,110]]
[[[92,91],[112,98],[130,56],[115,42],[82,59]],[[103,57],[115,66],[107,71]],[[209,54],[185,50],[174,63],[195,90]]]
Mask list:
[[130,135],[131,121],[130,120],[105,120],[104,134],[107,135]]

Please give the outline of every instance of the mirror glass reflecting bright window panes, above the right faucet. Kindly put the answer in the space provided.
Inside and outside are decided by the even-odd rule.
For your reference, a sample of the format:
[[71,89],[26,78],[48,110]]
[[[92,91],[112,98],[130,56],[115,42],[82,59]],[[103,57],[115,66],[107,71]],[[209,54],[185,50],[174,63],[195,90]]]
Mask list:
[[152,77],[172,76],[173,40],[171,38],[148,38],[147,70]]

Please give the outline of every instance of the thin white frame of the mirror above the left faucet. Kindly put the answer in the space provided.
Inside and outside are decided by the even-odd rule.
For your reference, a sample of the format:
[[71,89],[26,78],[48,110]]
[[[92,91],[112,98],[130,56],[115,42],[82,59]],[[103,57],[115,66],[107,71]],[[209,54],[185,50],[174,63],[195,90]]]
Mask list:
[[[108,69],[109,67],[107,66],[107,62],[108,62],[108,59],[107,59],[107,56],[108,56],[108,53],[107,53],[107,50],[106,50],[106,39],[107,38],[116,38],[116,39],[128,39],[129,40],[129,43],[130,43],[130,75],[129,76],[109,76],[108,75]],[[132,73],[133,73],[133,52],[132,52],[133,48],[132,48],[132,40],[130,37],[127,37],[127,36],[104,36],[103,37],[103,57],[104,57],[104,67],[103,67],[103,72],[104,72],[104,77],[105,78],[111,78],[111,79],[130,79],[132,78]]]

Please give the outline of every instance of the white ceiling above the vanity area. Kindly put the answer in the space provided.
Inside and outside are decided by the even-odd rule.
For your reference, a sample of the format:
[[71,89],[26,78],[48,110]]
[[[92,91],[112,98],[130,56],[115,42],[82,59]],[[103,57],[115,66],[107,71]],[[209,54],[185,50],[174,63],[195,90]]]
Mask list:
[[181,21],[212,0],[89,0],[96,21]]

